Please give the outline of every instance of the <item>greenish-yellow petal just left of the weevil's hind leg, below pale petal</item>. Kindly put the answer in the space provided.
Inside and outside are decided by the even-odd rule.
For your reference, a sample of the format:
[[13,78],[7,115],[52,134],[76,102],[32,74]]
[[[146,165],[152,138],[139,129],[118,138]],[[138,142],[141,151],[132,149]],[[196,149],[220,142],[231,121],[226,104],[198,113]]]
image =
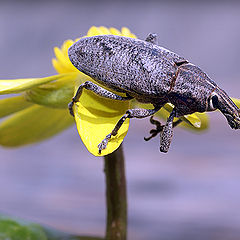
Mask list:
[[47,107],[67,108],[73,97],[75,85],[80,85],[86,80],[89,80],[89,77],[83,73],[69,73],[55,82],[26,91],[25,97],[28,101]]

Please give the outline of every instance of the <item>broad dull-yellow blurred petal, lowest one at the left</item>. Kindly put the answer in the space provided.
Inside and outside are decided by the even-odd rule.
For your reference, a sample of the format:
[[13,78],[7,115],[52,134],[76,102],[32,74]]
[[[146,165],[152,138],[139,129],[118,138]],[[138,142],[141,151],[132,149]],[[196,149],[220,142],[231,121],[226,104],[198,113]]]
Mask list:
[[17,147],[42,141],[74,123],[67,109],[33,105],[0,124],[0,145]]

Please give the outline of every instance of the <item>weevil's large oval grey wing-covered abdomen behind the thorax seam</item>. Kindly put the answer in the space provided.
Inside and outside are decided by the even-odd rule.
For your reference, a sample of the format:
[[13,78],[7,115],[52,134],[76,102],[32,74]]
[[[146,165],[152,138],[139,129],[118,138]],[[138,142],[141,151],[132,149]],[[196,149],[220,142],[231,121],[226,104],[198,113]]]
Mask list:
[[145,102],[168,93],[175,62],[185,60],[155,44],[112,35],[80,39],[70,47],[69,58],[100,84]]

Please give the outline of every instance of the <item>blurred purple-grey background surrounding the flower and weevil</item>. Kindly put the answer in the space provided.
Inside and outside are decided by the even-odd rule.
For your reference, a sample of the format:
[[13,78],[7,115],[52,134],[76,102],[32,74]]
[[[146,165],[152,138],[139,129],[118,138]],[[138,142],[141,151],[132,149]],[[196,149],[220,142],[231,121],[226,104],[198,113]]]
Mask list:
[[[128,27],[206,71],[240,97],[238,1],[0,1],[0,79],[55,74],[53,47],[92,26]],[[240,133],[220,113],[208,131],[175,129],[168,154],[147,120],[124,141],[131,240],[239,240]],[[48,141],[0,148],[0,212],[67,232],[103,236],[103,159],[75,127]]]

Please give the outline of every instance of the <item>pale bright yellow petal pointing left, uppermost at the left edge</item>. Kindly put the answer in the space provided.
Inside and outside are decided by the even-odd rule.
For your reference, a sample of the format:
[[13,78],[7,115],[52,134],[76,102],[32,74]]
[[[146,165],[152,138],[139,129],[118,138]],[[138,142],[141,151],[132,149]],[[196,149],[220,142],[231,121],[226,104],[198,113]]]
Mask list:
[[25,78],[14,80],[0,80],[0,94],[18,93],[32,87],[60,79],[64,75],[54,75],[45,78]]

